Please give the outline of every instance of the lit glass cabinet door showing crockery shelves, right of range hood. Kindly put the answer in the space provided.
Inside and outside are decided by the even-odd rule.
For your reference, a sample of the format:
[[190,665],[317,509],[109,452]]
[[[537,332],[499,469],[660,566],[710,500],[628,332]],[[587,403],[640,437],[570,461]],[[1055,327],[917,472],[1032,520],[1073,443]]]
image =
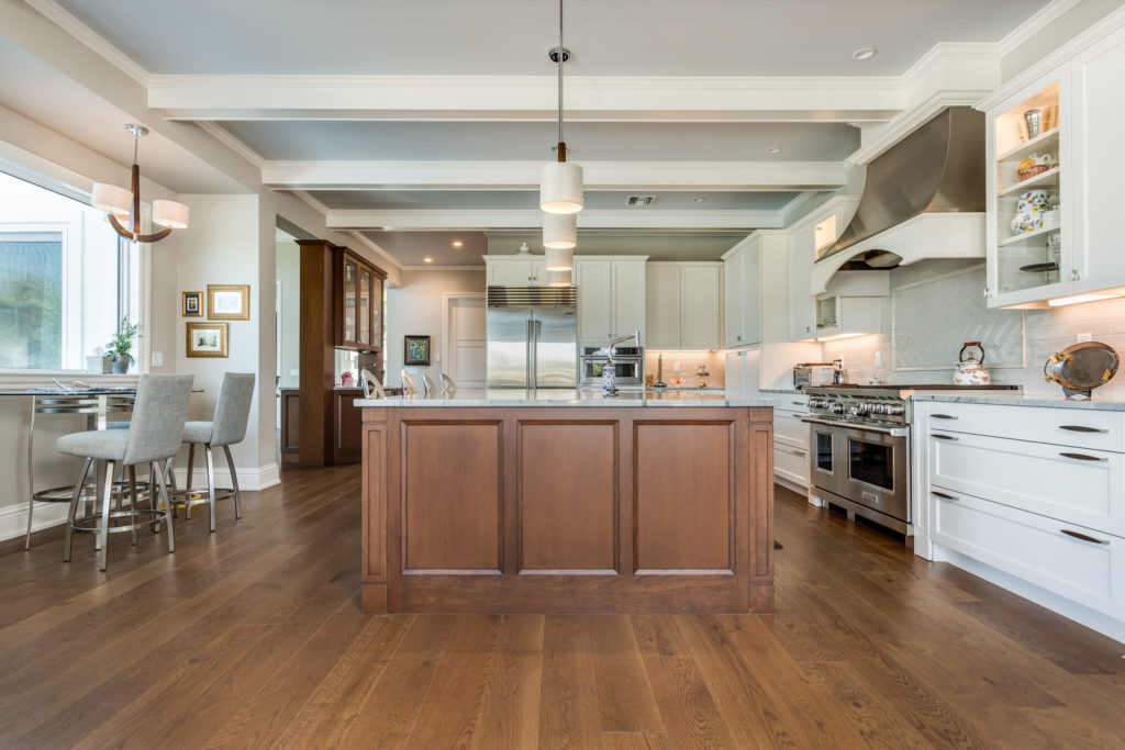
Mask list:
[[1069,281],[1060,217],[1059,83],[997,116],[994,126],[997,292]]

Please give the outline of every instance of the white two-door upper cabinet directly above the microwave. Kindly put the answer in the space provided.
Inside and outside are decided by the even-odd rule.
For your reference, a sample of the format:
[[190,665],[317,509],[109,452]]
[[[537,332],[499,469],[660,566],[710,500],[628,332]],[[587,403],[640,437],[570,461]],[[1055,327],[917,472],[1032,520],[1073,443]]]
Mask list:
[[645,256],[576,256],[578,341],[604,345],[645,332]]

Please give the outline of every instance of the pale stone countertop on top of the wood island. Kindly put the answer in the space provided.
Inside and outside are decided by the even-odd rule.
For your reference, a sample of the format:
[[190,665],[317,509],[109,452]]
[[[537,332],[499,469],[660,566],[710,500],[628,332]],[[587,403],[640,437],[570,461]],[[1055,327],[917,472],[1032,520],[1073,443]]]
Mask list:
[[569,388],[524,390],[502,388],[490,390],[460,390],[452,398],[359,398],[356,406],[610,406],[610,407],[656,407],[656,406],[762,406],[774,407],[772,398],[727,398],[718,392],[622,390],[615,397],[606,397],[602,391],[575,390]]

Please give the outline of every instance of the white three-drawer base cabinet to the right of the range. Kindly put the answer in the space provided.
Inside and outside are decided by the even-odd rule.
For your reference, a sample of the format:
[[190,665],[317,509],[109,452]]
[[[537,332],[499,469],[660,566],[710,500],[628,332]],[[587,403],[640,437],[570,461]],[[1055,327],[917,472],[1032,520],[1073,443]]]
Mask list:
[[915,550],[1125,635],[1125,415],[915,401]]

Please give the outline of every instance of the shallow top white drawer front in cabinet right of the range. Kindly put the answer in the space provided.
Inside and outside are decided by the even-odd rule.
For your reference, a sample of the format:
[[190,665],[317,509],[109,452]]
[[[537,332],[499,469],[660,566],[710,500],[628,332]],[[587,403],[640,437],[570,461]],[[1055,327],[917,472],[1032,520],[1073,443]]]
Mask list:
[[992,404],[928,404],[934,430],[1125,452],[1125,412]]

